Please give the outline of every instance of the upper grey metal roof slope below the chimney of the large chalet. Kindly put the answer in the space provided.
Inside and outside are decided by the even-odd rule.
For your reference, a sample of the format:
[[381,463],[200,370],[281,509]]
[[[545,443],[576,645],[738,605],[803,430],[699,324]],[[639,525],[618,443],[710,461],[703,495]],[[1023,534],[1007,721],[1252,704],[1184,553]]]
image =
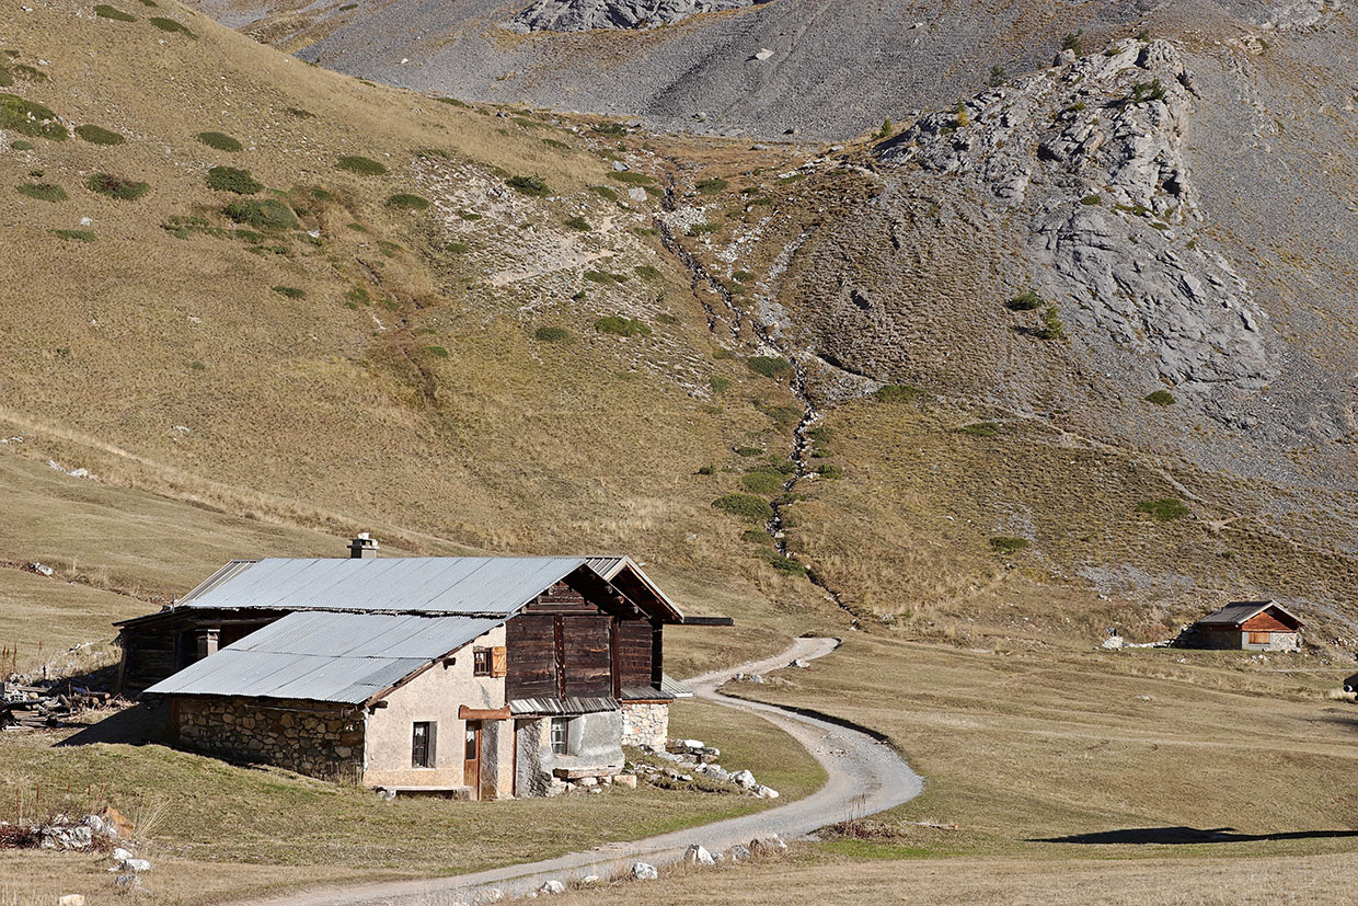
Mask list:
[[[390,557],[228,564],[190,607],[512,614],[585,564],[580,557]],[[215,576],[216,579],[216,576]]]

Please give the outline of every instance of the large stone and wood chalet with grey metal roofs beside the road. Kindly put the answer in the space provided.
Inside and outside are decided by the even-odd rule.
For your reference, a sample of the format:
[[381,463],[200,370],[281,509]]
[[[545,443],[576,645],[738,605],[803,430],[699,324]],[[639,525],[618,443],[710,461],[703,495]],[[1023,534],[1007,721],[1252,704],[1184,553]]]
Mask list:
[[[689,617],[627,557],[238,560],[117,623],[120,685],[179,744],[467,799],[608,777],[663,747],[667,625]],[[589,782],[589,781],[587,781]]]

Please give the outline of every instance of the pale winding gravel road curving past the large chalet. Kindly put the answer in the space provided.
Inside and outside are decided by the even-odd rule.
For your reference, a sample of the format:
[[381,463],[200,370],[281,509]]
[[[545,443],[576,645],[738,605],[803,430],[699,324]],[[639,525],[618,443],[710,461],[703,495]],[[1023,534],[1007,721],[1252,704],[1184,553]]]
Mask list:
[[[797,638],[781,655],[703,674],[686,681],[706,701],[736,708],[770,721],[788,732],[826,770],[826,784],[805,799],[752,815],[728,818],[701,827],[678,830],[645,839],[604,844],[555,858],[521,863],[454,877],[376,882],[311,888],[261,899],[238,901],[247,906],[454,906],[471,903],[492,887],[505,896],[523,896],[547,880],[564,883],[587,875],[622,876],[636,861],[664,865],[683,858],[691,844],[721,852],[755,837],[778,834],[794,839],[841,820],[862,818],[906,803],[923,789],[923,780],[889,746],[866,732],[820,717],[794,713],[775,705],[722,695],[717,689],[736,674],[759,674],[788,667],[793,660],[824,657],[839,647],[837,638]],[[569,800],[566,800],[569,801]]]

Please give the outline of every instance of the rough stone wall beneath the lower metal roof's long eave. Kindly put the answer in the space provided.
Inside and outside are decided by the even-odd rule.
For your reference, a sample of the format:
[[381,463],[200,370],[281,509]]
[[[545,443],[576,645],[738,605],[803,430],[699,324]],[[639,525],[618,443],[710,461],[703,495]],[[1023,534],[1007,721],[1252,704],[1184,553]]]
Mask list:
[[363,781],[364,717],[353,708],[179,695],[174,725],[185,748],[320,780]]

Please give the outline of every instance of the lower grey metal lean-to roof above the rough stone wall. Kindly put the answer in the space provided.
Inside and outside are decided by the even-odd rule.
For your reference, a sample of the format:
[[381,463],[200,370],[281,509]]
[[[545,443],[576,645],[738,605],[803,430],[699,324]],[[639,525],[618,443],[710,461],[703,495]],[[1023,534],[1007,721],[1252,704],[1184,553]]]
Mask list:
[[357,705],[501,622],[478,617],[299,611],[147,691]]

